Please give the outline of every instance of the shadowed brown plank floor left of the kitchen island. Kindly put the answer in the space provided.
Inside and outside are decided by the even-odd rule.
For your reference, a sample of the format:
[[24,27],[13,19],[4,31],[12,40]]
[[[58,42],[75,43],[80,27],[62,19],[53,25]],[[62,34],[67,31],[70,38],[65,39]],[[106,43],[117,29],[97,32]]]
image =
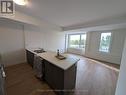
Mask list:
[[32,67],[27,63],[7,67],[6,73],[7,95],[33,95],[39,89],[50,89],[45,82],[35,77]]

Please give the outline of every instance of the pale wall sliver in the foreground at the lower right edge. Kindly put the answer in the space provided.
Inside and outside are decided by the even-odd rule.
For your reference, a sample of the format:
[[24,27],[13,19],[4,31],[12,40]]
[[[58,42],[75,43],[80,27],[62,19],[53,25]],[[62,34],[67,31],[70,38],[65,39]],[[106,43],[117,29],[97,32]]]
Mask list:
[[115,95],[125,95],[126,94],[126,39],[125,46],[123,49],[121,68],[119,73],[119,78],[117,82],[116,94]]

